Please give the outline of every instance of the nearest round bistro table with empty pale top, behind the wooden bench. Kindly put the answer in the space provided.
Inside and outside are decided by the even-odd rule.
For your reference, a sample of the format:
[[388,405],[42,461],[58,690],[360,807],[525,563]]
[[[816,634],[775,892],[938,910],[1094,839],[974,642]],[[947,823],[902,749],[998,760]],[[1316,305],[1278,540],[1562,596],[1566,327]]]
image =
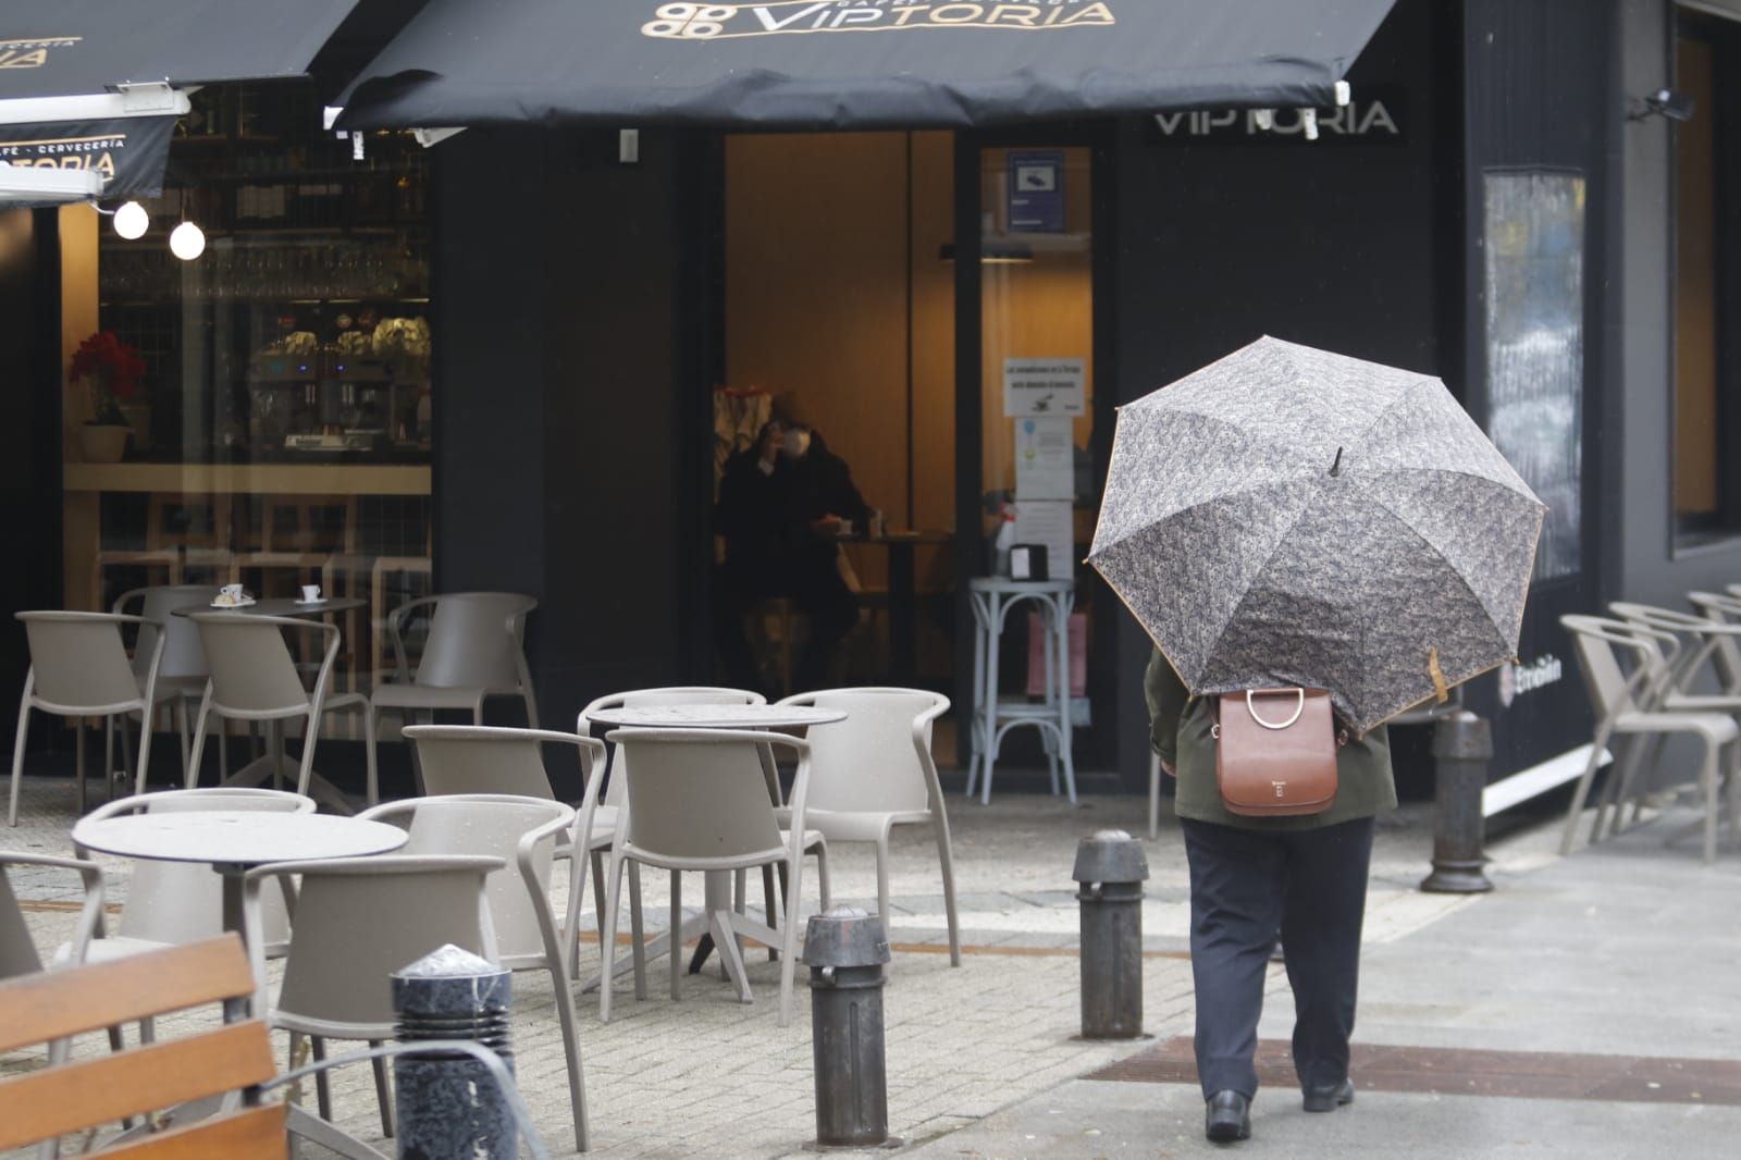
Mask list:
[[[385,822],[364,822],[329,813],[261,813],[258,810],[200,810],[171,813],[125,813],[85,819],[73,826],[73,845],[82,850],[122,859],[155,862],[209,862],[223,876],[223,928],[235,932],[254,968],[252,1012],[240,1017],[266,1017],[266,972],[261,948],[247,941],[242,920],[242,878],[256,866],[303,859],[353,859],[387,853],[406,845],[411,834]],[[387,981],[383,979],[385,986]],[[186,1118],[211,1115],[221,1104],[188,1106]],[[289,1108],[291,1132],[315,1141],[343,1157],[380,1157],[362,1141],[352,1139],[320,1116]],[[141,1129],[136,1129],[141,1130]],[[125,1139],[125,1137],[124,1137]]]

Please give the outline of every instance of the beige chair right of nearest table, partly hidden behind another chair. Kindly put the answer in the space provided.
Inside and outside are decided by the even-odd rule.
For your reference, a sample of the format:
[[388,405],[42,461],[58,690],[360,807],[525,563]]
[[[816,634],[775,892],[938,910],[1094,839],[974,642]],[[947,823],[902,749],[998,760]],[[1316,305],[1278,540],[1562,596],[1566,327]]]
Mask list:
[[[536,742],[529,742],[536,745]],[[498,749],[507,745],[498,745]],[[602,766],[599,775],[602,777]],[[555,989],[557,1024],[568,1061],[568,1099],[575,1116],[575,1146],[588,1150],[587,1080],[575,1029],[575,993],[568,986],[568,941],[550,906],[550,867],[559,841],[569,843],[576,813],[561,801],[512,794],[449,794],[390,801],[359,817],[404,826],[411,838],[406,855],[484,853],[503,859],[507,869],[489,876],[489,918],[496,928],[500,965],[508,970],[548,970]],[[569,897],[580,895],[576,876],[585,859],[569,860]]]

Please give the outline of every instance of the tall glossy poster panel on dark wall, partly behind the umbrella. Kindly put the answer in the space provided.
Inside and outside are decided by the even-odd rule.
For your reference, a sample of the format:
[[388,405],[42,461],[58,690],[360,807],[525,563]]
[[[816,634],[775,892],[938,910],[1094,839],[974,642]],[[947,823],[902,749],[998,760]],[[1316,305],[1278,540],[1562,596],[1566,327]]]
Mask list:
[[1489,171],[1487,434],[1543,503],[1536,580],[1583,563],[1584,178]]

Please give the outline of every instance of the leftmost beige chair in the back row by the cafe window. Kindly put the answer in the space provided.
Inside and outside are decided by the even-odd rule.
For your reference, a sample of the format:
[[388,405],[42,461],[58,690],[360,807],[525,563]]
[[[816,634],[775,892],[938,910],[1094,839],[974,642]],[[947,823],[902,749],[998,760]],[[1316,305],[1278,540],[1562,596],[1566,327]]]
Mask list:
[[[151,707],[157,705],[157,667],[164,658],[162,625],[145,617],[84,611],[14,613],[30,637],[30,672],[17,705],[17,738],[12,744],[12,792],[7,826],[17,826],[19,779],[24,773],[24,733],[30,711],[40,709],[61,718],[113,718],[139,712],[139,773],[134,792],[145,792],[145,775],[151,763]],[[134,672],[122,627],[153,629],[145,662],[145,676]],[[85,730],[77,721],[78,810],[85,808]],[[131,763],[129,763],[131,765]],[[103,775],[108,780],[108,772]]]

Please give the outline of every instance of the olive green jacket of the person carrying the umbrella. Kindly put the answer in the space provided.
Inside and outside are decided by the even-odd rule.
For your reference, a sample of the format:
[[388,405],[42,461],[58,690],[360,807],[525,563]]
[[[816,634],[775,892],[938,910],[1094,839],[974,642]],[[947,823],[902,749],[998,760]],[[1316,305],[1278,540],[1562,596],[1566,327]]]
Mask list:
[[1208,702],[1191,697],[1160,650],[1149,660],[1142,693],[1149,700],[1149,744],[1161,761],[1179,772],[1179,794],[1173,799],[1173,812],[1179,817],[1241,829],[1313,829],[1396,808],[1391,738],[1381,725],[1342,745],[1335,759],[1335,803],[1323,813],[1297,817],[1229,813],[1215,786],[1215,737],[1210,733],[1215,721],[1210,718]]

